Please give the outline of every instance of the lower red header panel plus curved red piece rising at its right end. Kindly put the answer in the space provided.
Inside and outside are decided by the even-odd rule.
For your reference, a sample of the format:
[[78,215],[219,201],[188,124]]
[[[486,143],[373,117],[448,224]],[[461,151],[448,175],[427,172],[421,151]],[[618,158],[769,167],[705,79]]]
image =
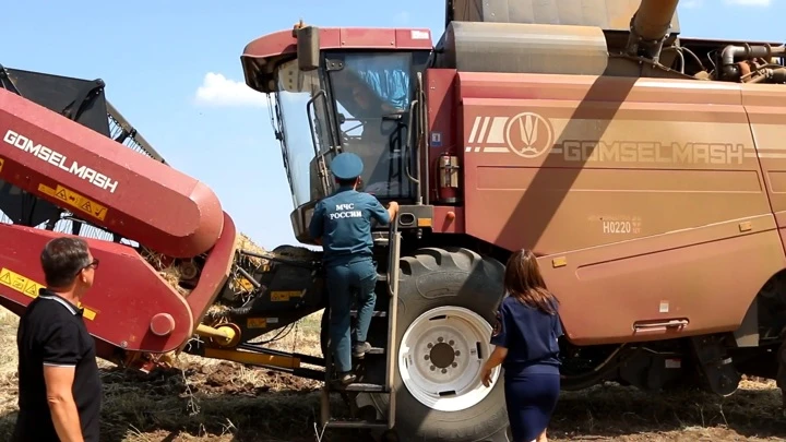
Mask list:
[[[187,342],[229,274],[236,230],[228,215],[224,214],[224,231],[205,261],[199,284],[186,299],[132,248],[85,238],[102,262],[94,286],[83,299],[87,330],[100,344],[98,356],[109,358],[115,348],[166,353]],[[40,251],[47,241],[61,236],[0,224],[0,304],[22,314],[45,284],[38,265]],[[175,324],[165,336],[151,331],[153,318],[162,313]]]

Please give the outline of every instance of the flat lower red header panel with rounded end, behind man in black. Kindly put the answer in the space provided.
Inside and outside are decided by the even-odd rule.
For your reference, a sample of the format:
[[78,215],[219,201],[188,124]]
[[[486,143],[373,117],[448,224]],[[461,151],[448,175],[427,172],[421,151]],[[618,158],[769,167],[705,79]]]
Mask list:
[[[25,278],[14,275],[0,280],[3,307],[21,313],[20,307],[33,300],[37,295],[33,282],[45,284],[44,272],[37,265],[40,251],[47,241],[60,236],[63,235],[0,225],[0,272],[11,271]],[[102,262],[94,286],[83,299],[83,307],[95,312],[94,318],[85,313],[91,334],[114,346],[143,351],[172,350],[191,335],[193,319],[186,299],[139,253],[115,242],[88,238],[86,241],[93,255]],[[175,320],[175,331],[168,336],[150,333],[150,322],[156,313],[168,313]]]

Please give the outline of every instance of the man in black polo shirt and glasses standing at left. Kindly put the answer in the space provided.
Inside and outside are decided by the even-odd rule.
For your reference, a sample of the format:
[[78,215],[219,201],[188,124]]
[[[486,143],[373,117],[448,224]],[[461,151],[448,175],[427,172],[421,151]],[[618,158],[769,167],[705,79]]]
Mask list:
[[47,288],[20,318],[16,442],[98,442],[102,384],[82,296],[98,260],[80,238],[49,241],[40,255]]

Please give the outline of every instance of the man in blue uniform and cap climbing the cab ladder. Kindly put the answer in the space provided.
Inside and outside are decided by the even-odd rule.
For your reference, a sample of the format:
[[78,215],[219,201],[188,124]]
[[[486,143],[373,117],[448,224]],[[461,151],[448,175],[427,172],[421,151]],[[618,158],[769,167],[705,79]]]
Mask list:
[[394,219],[398,204],[388,210],[377,198],[356,190],[362,160],[353,153],[337,155],[331,171],[338,189],[317,203],[309,234],[322,244],[323,264],[330,299],[330,335],[338,380],[355,382],[352,373],[349,309],[353,291],[359,298],[358,326],[352,356],[362,357],[371,346],[366,342],[377,295],[377,266],[372,256],[371,218],[385,225]]

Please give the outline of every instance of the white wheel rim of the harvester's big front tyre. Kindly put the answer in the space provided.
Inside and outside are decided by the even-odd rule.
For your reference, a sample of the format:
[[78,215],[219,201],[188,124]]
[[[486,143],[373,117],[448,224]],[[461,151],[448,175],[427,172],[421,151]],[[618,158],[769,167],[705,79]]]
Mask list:
[[[458,411],[478,404],[491,392],[480,379],[493,350],[490,338],[491,325],[472,310],[445,306],[427,311],[409,324],[398,347],[404,385],[431,409]],[[498,366],[493,384],[499,373]]]

